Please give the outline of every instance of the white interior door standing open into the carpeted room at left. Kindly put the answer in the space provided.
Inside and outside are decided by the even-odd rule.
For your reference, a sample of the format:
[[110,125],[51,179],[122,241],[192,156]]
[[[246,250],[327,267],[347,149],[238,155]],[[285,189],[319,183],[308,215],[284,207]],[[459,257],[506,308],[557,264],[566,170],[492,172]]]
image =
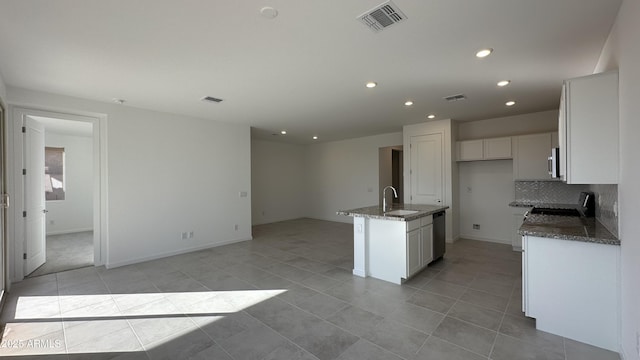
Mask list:
[[44,197],[44,126],[25,117],[24,132],[24,203],[25,203],[25,274],[44,264],[46,254]]

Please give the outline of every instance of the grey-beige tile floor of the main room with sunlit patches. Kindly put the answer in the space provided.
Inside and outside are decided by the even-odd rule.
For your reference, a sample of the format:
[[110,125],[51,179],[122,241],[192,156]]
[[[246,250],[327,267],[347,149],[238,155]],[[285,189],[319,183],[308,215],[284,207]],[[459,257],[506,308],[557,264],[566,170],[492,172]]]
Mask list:
[[[13,286],[0,356],[19,359],[558,359],[618,354],[537,331],[519,253],[460,240],[402,286],[351,275],[348,224]],[[29,356],[31,355],[31,356]]]

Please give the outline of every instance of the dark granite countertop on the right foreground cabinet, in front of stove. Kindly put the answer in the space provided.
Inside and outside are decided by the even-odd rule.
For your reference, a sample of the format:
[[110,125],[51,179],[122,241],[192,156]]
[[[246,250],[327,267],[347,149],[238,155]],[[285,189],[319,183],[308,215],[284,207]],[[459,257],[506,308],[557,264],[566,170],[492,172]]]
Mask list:
[[595,218],[533,214],[525,219],[518,232],[551,239],[620,245],[620,239]]

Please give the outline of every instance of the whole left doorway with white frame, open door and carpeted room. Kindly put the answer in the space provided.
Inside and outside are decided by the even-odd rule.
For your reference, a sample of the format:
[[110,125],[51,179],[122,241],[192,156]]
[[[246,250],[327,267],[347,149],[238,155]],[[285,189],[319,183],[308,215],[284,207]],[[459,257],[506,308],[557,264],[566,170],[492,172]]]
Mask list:
[[[14,108],[10,125],[14,164],[10,188],[15,194],[9,222],[15,234],[9,242],[12,281],[20,281],[30,274],[103,265],[106,145],[101,134],[106,130],[106,117]],[[63,158],[50,165],[47,173],[45,147]],[[79,168],[84,175],[77,174]],[[47,194],[55,196],[47,201]],[[72,238],[67,236],[70,234]],[[56,241],[47,242],[47,238],[61,240],[63,237],[67,238],[55,245],[59,250],[58,265],[53,266],[52,255],[56,249],[52,246]],[[84,243],[82,250],[80,243]],[[82,253],[89,255],[82,262],[75,262],[74,257]],[[47,263],[52,266],[39,269]]]

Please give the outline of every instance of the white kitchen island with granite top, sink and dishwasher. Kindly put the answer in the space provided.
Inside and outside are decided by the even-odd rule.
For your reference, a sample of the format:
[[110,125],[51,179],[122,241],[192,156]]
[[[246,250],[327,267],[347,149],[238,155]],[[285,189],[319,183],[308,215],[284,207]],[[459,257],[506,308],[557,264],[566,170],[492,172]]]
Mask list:
[[[447,208],[406,204],[386,212],[378,206],[338,211],[353,217],[353,274],[401,284],[422,270],[435,260],[434,215],[440,223]],[[444,234],[438,237],[444,239]],[[436,259],[443,246],[438,244]]]

